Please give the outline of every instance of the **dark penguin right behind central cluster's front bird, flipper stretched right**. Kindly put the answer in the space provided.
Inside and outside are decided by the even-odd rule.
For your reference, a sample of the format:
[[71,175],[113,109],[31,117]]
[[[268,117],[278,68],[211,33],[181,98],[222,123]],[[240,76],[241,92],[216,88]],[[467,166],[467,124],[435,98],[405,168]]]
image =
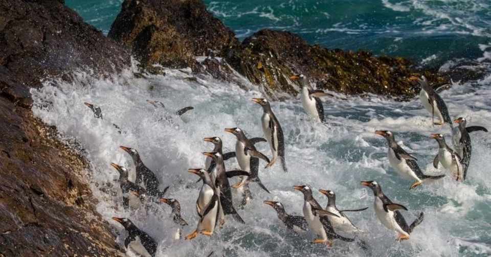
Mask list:
[[[216,163],[216,180],[215,188],[220,190],[220,225],[225,223],[225,215],[231,214],[237,222],[245,223],[234,208],[232,201],[232,191],[230,190],[229,178],[234,176],[249,176],[249,172],[241,170],[227,171],[223,156],[218,152],[205,152],[206,156],[210,156]],[[223,213],[221,213],[223,212]]]

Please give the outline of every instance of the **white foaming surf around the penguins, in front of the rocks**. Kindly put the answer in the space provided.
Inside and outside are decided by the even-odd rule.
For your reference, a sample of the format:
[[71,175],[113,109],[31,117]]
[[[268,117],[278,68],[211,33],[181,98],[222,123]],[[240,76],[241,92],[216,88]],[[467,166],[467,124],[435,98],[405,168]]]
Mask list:
[[[90,181],[99,199],[98,212],[119,231],[122,245],[127,233],[112,221],[113,216],[130,218],[158,243],[157,256],[206,256],[212,250],[218,256],[316,256],[343,254],[349,256],[487,256],[491,254],[491,139],[488,134],[474,132],[473,156],[467,180],[452,181],[450,176],[408,190],[413,181],[401,179],[389,167],[385,139],[375,135],[376,129],[389,129],[396,141],[418,158],[427,174],[439,174],[431,163],[437,143],[429,138],[433,132],[449,134],[448,128],[433,127],[429,114],[419,100],[395,102],[380,97],[348,100],[326,99],[327,124],[311,121],[300,100],[274,102],[272,108],[281,123],[286,141],[284,173],[277,163],[260,177],[271,195],[251,184],[254,199],[238,209],[244,225],[227,217],[223,229],[208,238],[174,241],[177,226],[170,217],[171,208],[157,204],[157,211],[146,213],[124,211],[118,185],[118,173],[109,166],[119,163],[134,171],[130,156],[120,145],[137,149],[145,164],[161,181],[161,189],[171,185],[167,197],[181,202],[183,217],[189,226],[184,235],[194,230],[198,217],[195,201],[200,183],[188,168],[204,167],[203,151],[211,150],[204,137],[220,136],[224,151],[235,149],[235,137],[226,127],[240,127],[249,137],[263,136],[262,109],[250,101],[261,97],[257,90],[245,91],[239,86],[211,78],[189,81],[186,72],[167,70],[166,76],[133,77],[128,69],[112,79],[99,79],[87,73],[74,74],[74,82],[47,81],[41,89],[33,89],[33,112],[49,125],[55,125],[64,138],[75,139],[82,154],[91,162]],[[452,118],[464,116],[468,124],[491,127],[491,76],[475,83],[455,84],[441,96],[447,102]],[[250,85],[251,88],[254,88]],[[155,108],[147,99],[163,102],[166,109]],[[104,120],[95,119],[83,102],[101,107]],[[185,106],[195,109],[175,116]],[[172,117],[169,119],[169,117]],[[113,126],[121,127],[122,133]],[[450,142],[450,138],[447,138]],[[271,156],[267,144],[258,150]],[[238,168],[234,160],[228,169]],[[441,169],[441,168],[440,168]],[[133,172],[131,172],[133,173]],[[134,179],[134,178],[133,178]],[[409,208],[403,212],[411,223],[419,212],[425,220],[415,228],[411,239],[395,241],[395,233],[386,229],[375,217],[373,195],[360,185],[361,180],[376,180],[384,193],[396,203]],[[234,182],[234,181],[232,181]],[[314,197],[325,206],[327,198],[318,190],[337,194],[340,209],[368,206],[364,212],[349,213],[353,223],[365,232],[360,237],[369,249],[339,240],[327,249],[311,244],[310,232],[299,235],[287,230],[276,212],[263,200],[280,201],[288,213],[302,214],[303,196],[293,185],[309,184]],[[238,206],[240,194],[234,192]]]

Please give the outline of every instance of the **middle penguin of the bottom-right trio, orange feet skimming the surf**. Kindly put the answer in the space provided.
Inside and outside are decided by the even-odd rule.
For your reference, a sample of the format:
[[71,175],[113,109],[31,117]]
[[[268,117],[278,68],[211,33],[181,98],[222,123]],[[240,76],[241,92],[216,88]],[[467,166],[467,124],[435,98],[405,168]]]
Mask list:
[[[317,236],[317,239],[315,239],[313,243],[326,244],[330,247],[332,246],[332,240],[334,238],[339,238],[347,242],[354,241],[354,239],[344,238],[334,232],[334,229],[332,228],[327,216],[339,216],[323,210],[321,205],[312,196],[312,190],[309,188],[309,186],[295,185],[293,188],[303,193],[303,217],[307,221],[310,230],[312,230]],[[319,213],[319,211],[323,211],[322,215]]]

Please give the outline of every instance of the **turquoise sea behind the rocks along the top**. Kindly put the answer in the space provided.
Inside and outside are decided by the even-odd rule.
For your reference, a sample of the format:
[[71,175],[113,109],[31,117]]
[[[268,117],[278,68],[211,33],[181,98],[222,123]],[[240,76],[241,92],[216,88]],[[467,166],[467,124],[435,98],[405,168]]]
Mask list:
[[[122,0],[68,0],[96,28],[107,33]],[[491,42],[488,0],[206,0],[208,9],[239,38],[271,28],[300,34],[311,43],[345,50],[365,49],[425,64],[482,56]]]

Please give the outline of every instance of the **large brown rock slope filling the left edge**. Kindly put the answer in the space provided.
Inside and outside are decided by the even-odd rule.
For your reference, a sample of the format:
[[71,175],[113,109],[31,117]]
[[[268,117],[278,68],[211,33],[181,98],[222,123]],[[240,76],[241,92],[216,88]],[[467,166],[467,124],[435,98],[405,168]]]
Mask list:
[[30,88],[75,69],[119,71],[129,51],[62,0],[0,0],[0,256],[115,256],[87,162],[31,111]]

